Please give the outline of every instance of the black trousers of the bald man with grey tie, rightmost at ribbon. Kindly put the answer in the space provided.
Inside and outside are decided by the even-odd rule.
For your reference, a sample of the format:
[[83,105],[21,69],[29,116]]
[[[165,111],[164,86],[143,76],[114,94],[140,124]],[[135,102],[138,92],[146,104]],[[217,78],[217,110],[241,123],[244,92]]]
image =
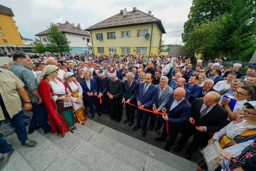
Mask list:
[[178,141],[178,148],[183,148],[192,135],[194,135],[193,140],[190,146],[186,149],[186,154],[192,154],[198,147],[205,147],[208,140],[212,137],[212,135],[207,134],[206,132],[198,131],[193,124],[187,121],[185,129]]

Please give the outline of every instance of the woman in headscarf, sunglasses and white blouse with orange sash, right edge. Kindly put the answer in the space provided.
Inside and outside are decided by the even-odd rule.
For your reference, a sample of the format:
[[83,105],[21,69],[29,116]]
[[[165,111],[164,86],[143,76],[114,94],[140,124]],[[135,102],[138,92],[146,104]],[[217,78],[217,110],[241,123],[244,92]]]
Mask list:
[[[256,101],[246,102],[241,114],[243,118],[232,121],[220,129],[219,132],[215,132],[213,137],[209,139],[208,145],[217,140],[220,143],[220,147],[225,151],[233,148],[236,149],[236,152],[237,150],[241,152],[241,150],[250,145],[256,138]],[[239,148],[241,146],[243,147],[242,149]],[[197,163],[200,168],[207,169],[203,157]]]

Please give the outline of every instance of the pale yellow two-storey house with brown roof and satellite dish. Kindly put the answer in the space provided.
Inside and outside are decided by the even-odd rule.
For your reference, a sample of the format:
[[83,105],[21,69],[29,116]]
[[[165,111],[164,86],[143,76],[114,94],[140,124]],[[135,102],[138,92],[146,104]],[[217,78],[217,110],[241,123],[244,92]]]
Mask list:
[[165,33],[160,19],[137,10],[120,10],[114,15],[87,29],[95,55],[151,55],[160,53],[162,34]]

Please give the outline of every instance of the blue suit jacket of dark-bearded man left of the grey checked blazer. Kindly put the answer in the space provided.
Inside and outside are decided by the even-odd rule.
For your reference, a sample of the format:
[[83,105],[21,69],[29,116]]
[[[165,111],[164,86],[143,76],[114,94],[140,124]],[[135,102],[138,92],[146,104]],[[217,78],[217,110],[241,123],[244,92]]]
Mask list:
[[140,101],[141,104],[144,105],[144,108],[151,110],[152,105],[156,102],[157,99],[157,88],[154,84],[151,83],[143,95],[144,85],[145,82],[139,84],[136,100],[137,102]]

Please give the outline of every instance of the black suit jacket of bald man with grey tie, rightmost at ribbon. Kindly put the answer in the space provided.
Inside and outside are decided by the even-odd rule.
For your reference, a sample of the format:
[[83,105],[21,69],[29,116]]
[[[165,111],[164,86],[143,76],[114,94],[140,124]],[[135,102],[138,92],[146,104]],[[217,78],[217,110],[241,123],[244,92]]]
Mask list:
[[194,123],[196,126],[206,126],[206,132],[220,131],[220,129],[227,125],[228,111],[219,104],[216,104],[212,110],[210,110],[200,119],[200,109],[203,105],[203,102],[203,99],[196,98],[191,103],[193,110],[190,117],[194,118]]

